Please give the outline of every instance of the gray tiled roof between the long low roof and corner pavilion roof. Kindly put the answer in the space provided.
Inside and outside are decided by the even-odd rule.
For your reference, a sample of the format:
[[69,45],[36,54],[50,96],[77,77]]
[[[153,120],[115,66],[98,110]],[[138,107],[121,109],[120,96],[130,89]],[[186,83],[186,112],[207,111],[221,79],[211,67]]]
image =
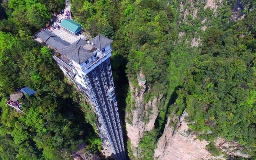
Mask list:
[[83,39],[78,39],[73,44],[60,50],[60,53],[75,61],[76,63],[81,64],[93,56],[92,52],[83,48],[85,45],[88,45],[86,41]]

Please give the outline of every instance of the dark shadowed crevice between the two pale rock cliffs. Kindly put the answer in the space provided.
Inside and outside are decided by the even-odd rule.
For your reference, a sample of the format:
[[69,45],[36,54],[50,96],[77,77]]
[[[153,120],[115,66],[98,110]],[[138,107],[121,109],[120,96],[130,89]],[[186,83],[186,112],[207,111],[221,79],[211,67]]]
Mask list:
[[[170,108],[171,104],[173,104],[173,103],[176,101],[176,99],[177,99],[177,97],[178,97],[176,91],[177,91],[179,88],[181,88],[181,87],[182,87],[182,86],[177,86],[177,87],[174,88],[174,91],[173,91],[173,93],[171,94],[171,97],[170,97],[170,99],[169,99],[169,101],[168,101],[168,104],[167,104],[166,109],[163,108],[163,109],[158,113],[156,122],[154,123],[155,128],[157,128],[157,129],[159,130],[159,134],[158,134],[158,137],[157,137],[157,138],[161,137],[161,135],[163,134],[164,127],[165,127],[165,125],[166,125],[166,123],[167,123],[167,117],[168,117],[167,115],[168,115],[168,113],[169,113],[169,108]],[[168,100],[168,99],[167,99],[167,100]],[[164,114],[164,116],[161,115],[161,114]]]

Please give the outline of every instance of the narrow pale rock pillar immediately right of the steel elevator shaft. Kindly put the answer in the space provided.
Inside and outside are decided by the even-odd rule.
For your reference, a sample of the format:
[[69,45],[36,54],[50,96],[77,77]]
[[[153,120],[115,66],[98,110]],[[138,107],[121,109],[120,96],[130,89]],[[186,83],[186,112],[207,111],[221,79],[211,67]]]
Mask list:
[[131,141],[131,149],[134,156],[139,153],[137,147],[143,134],[154,128],[154,123],[161,107],[160,101],[163,97],[163,95],[159,95],[152,101],[148,101],[146,104],[143,103],[143,94],[150,88],[147,88],[145,82],[141,82],[139,79],[138,82],[140,89],[133,87],[129,81],[131,100],[133,101],[131,105],[133,107],[131,113],[126,113],[125,119],[127,136]]

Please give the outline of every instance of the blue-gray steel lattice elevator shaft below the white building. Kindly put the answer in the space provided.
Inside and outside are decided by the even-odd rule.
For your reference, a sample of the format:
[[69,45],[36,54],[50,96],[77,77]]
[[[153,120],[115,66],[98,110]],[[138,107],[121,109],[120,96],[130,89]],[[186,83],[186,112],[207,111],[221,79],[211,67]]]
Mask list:
[[109,58],[83,76],[83,78],[90,95],[90,100],[96,109],[99,120],[104,126],[116,158],[125,159],[125,148],[117,101],[115,94],[110,91],[111,88],[114,88],[114,82]]

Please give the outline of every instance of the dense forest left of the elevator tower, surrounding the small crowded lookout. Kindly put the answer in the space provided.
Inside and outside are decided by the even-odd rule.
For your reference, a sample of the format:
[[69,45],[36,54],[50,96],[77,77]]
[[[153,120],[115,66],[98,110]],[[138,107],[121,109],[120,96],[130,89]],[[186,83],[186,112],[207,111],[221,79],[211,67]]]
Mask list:
[[[0,159],[70,159],[80,144],[87,153],[101,149],[90,125],[95,115],[85,104],[79,105],[76,89],[63,77],[51,50],[31,36],[49,21],[51,11],[62,8],[64,1],[60,2],[3,4],[8,19],[0,21]],[[35,89],[36,95],[27,97],[24,113],[18,113],[6,101],[24,86]]]

